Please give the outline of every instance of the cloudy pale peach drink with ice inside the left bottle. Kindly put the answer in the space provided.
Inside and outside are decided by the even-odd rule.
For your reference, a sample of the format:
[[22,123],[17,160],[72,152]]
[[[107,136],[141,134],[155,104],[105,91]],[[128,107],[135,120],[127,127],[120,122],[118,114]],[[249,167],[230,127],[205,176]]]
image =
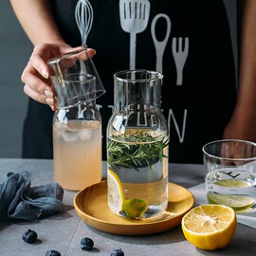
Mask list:
[[54,179],[79,191],[101,181],[101,123],[69,120],[53,124]]

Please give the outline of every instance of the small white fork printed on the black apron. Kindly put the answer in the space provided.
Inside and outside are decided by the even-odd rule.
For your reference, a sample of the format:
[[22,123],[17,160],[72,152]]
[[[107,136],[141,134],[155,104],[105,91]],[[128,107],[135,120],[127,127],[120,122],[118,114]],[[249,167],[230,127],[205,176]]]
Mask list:
[[[185,40],[184,46],[182,46],[183,39]],[[179,37],[178,41],[176,37],[173,38],[172,49],[177,72],[176,85],[182,85],[183,82],[183,68],[189,55],[189,43],[188,37]]]

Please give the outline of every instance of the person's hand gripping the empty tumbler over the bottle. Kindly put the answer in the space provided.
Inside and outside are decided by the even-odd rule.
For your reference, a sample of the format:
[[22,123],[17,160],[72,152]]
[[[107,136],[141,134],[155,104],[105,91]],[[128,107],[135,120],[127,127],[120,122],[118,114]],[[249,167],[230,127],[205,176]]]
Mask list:
[[[49,81],[49,68],[46,61],[54,56],[79,48],[81,47],[73,48],[66,44],[35,46],[21,77],[22,82],[25,83],[25,94],[35,101],[48,104],[52,110],[56,110],[54,89]],[[91,57],[95,55],[94,49],[88,48],[88,52]]]

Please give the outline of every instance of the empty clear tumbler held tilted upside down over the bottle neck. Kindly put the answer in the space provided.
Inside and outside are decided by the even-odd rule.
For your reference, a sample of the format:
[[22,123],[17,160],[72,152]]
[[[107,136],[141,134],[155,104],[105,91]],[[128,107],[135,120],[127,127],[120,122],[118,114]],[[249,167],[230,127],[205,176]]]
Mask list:
[[105,93],[98,71],[86,48],[47,61],[56,93],[57,108],[96,100]]

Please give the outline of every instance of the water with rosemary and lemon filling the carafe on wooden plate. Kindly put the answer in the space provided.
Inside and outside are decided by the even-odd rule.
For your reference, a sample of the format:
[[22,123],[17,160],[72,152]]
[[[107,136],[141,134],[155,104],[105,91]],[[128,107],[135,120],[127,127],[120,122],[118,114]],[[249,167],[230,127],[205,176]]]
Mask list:
[[120,216],[153,217],[168,204],[167,136],[127,131],[108,137],[108,205]]

